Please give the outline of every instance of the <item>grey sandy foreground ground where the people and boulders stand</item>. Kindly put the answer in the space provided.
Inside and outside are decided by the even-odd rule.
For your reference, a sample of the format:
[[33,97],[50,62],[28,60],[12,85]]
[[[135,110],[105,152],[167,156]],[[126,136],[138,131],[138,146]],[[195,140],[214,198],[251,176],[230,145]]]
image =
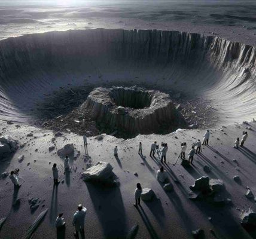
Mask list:
[[[125,238],[135,223],[139,224],[137,238],[191,238],[191,230],[197,228],[205,230],[206,238],[251,238],[239,225],[239,214],[242,209],[251,206],[255,210],[255,202],[245,197],[247,186],[256,194],[256,125],[250,125],[252,130],[247,130],[249,137],[245,148],[238,150],[233,148],[234,139],[237,136],[241,137],[242,131],[248,125],[228,125],[211,130],[209,146],[203,146],[202,156],[196,156],[194,166],[187,169],[180,166],[179,162],[176,166],[172,163],[178,157],[180,143],[185,141],[190,146],[196,139],[202,139],[202,130],[181,130],[166,136],[139,135],[129,140],[104,136],[102,141],[97,141],[91,137],[88,148],[92,162],[95,164],[102,160],[111,163],[120,180],[120,187],[100,188],[91,183],[84,183],[80,179],[83,168],[86,168],[83,154],[77,160],[72,160],[70,178],[65,178],[63,174],[63,161],[57,156],[56,149],[62,148],[66,143],[74,143],[77,151],[83,153],[83,140],[80,136],[65,133],[62,137],[57,137],[56,149],[48,152],[48,147],[53,144],[51,131],[28,125],[21,125],[17,129],[15,125],[7,125],[1,121],[2,134],[10,134],[19,139],[20,144],[27,143],[13,157],[1,161],[0,164],[0,173],[20,168],[22,183],[19,194],[14,195],[10,179],[0,181],[0,215],[7,216],[1,230],[1,238],[22,238],[29,225],[45,208],[49,209],[48,214],[35,232],[34,238],[56,237],[53,223],[59,212],[64,213],[67,223],[66,238],[72,238],[72,215],[78,203],[83,203],[88,209],[87,238]],[[36,138],[26,137],[30,131],[33,131]],[[164,168],[174,186],[173,192],[166,193],[156,180],[156,171],[160,164],[149,156],[153,140],[157,140],[158,143],[163,141],[169,145],[167,164]],[[145,160],[138,154],[139,142],[142,142]],[[118,145],[119,149],[118,161],[113,155],[115,145]],[[25,160],[19,163],[17,158],[22,154],[25,155]],[[233,159],[236,159],[237,163]],[[142,161],[144,165],[141,164]],[[53,191],[53,163],[57,163],[60,168],[60,180],[65,180],[64,183],[60,183],[57,192]],[[211,168],[211,173],[203,171],[205,165]],[[134,175],[135,172],[138,173],[138,177]],[[188,187],[193,184],[194,179],[205,175],[224,180],[227,197],[232,200],[231,205],[216,207],[203,201],[194,202],[188,199]],[[240,176],[240,184],[234,182],[234,175]],[[153,189],[157,197],[150,203],[142,202],[139,210],[132,205],[137,182],[141,182],[143,188]],[[21,200],[18,208],[12,207],[14,197]],[[28,204],[29,198],[32,197],[44,200],[34,213],[30,212]],[[208,220],[209,216],[212,217],[211,222]],[[214,230],[216,237],[210,229]],[[252,238],[255,238],[255,235],[252,235]]]

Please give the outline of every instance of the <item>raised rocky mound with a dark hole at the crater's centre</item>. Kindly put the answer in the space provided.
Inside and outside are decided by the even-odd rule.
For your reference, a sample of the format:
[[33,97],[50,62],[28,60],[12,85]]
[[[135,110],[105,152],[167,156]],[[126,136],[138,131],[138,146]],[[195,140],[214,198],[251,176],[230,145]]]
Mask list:
[[168,94],[138,87],[95,88],[79,108],[102,127],[129,134],[169,133],[185,126]]

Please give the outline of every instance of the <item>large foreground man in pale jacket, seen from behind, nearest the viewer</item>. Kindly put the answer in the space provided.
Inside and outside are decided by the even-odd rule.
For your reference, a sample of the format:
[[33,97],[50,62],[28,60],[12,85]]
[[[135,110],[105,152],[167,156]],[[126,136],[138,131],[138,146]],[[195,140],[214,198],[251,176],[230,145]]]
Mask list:
[[82,204],[78,205],[78,211],[75,212],[73,217],[72,225],[75,226],[75,238],[79,239],[79,232],[81,234],[81,238],[84,239],[84,221],[86,218],[86,207],[83,207]]

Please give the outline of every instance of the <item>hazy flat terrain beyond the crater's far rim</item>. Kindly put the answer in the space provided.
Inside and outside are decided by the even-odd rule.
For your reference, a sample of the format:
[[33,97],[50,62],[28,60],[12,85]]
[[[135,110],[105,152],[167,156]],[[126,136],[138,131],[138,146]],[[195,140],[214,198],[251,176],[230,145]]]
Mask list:
[[244,38],[250,38],[256,33],[255,13],[255,1],[4,0],[0,1],[0,39],[53,30],[183,30],[182,26],[197,32],[203,27],[202,33],[212,33],[211,26],[240,29]]

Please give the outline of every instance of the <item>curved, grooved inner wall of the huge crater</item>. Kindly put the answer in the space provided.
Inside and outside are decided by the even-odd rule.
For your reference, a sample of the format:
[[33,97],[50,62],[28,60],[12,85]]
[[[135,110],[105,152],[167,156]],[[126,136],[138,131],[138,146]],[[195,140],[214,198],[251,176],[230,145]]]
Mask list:
[[255,66],[255,47],[196,33],[94,29],[9,38],[0,41],[0,118],[26,121],[44,94],[68,84],[138,82],[208,97],[223,122],[249,120]]

